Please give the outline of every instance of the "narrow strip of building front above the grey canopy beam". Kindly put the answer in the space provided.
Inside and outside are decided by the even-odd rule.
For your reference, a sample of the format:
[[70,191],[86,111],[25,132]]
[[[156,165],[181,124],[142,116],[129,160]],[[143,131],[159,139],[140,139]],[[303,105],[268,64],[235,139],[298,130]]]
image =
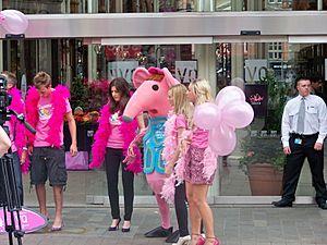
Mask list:
[[26,14],[327,10],[325,0],[51,0],[2,1]]

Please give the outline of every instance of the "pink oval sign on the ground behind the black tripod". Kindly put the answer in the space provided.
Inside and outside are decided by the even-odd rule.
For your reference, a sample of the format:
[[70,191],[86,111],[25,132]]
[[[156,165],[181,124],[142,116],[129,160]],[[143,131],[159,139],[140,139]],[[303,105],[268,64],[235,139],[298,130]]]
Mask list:
[[[3,215],[4,215],[3,208],[0,208],[0,234],[5,233],[5,222],[4,222]],[[24,231],[25,233],[35,232],[47,225],[46,217],[26,208],[23,208],[20,211],[20,218],[21,218],[22,231]],[[8,220],[8,224],[11,224],[11,215],[8,211],[7,211],[7,220]],[[19,229],[19,220],[17,220],[16,212],[14,212],[14,220],[16,224],[15,228]]]

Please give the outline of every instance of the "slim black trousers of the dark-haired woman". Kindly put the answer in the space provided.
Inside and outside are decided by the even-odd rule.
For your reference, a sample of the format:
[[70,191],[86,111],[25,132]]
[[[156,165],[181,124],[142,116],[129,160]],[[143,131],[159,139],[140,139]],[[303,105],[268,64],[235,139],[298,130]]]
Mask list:
[[133,212],[134,201],[134,173],[125,170],[122,149],[113,149],[107,147],[106,152],[106,173],[108,195],[111,207],[112,219],[120,219],[119,210],[119,193],[118,193],[118,172],[120,166],[122,166],[122,184],[124,193],[124,220],[131,220]]

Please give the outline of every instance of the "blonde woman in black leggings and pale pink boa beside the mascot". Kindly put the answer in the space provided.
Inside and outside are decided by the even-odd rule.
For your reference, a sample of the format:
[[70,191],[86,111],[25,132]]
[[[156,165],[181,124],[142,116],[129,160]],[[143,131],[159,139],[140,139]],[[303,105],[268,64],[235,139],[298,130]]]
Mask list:
[[168,100],[173,110],[169,112],[165,123],[165,142],[162,159],[165,161],[165,174],[167,181],[162,187],[162,196],[174,204],[175,216],[179,225],[179,240],[173,245],[189,244],[191,236],[187,228],[187,207],[184,182],[177,182],[174,167],[180,159],[181,140],[189,128],[191,105],[186,97],[187,88],[183,84],[172,86],[168,91]]

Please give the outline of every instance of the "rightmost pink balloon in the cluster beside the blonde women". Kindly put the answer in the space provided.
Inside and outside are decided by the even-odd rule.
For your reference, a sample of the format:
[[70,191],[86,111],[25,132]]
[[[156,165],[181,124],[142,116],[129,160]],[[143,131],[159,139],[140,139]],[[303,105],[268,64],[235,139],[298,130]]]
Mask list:
[[247,126],[254,118],[253,108],[247,102],[235,101],[221,110],[221,123],[235,128]]

